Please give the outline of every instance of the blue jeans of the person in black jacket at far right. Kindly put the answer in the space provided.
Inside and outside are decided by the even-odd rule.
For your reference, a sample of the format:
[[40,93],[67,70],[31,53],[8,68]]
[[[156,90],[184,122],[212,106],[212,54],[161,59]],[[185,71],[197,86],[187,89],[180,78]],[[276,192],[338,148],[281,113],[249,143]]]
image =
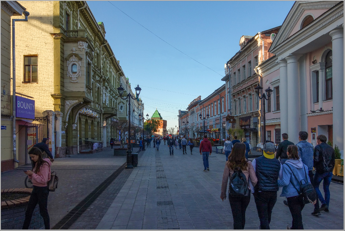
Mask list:
[[[317,193],[318,199],[321,201],[321,204],[326,204],[327,206],[329,205],[329,198],[331,197],[331,194],[329,193],[329,184],[331,184],[333,173],[332,172],[325,172],[325,173],[315,173],[314,176],[314,189]],[[324,193],[325,193],[325,199],[323,198],[321,191],[319,189],[321,181],[323,182],[323,187],[324,187]],[[319,210],[319,201],[316,201],[315,210]]]

